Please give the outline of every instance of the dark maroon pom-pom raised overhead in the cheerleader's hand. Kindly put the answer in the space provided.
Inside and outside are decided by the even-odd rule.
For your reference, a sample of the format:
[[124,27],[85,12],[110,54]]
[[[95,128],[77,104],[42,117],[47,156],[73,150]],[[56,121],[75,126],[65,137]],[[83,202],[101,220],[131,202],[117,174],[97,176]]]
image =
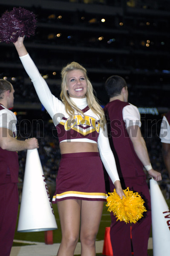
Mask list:
[[18,37],[30,37],[35,34],[36,16],[25,8],[14,7],[0,18],[0,42],[14,43]]

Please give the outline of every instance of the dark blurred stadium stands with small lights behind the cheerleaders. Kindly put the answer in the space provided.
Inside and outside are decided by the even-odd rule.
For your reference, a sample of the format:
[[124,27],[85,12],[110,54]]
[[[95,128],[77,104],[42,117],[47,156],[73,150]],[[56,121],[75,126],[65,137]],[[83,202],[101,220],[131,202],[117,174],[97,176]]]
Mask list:
[[[153,168],[160,171],[162,189],[170,198],[159,131],[170,110],[170,0],[0,0],[1,15],[24,7],[37,17],[35,35],[26,48],[59,97],[61,69],[71,61],[88,72],[102,106],[108,102],[104,82],[119,75],[129,88],[129,102],[141,113],[142,134]],[[49,190],[55,189],[60,163],[57,131],[40,104],[13,44],[0,43],[0,79],[12,82],[18,137],[37,137]],[[19,152],[22,187],[26,151]]]

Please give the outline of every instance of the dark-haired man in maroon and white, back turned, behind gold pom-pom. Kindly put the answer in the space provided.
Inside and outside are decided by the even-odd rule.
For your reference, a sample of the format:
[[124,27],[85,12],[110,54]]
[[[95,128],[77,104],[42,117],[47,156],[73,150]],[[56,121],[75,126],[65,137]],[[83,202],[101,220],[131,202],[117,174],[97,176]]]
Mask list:
[[[110,146],[115,156],[118,175],[123,189],[129,187],[138,192],[145,201],[147,212],[132,226],[132,245],[134,255],[147,256],[150,236],[151,212],[150,193],[143,166],[150,177],[161,180],[161,174],[153,170],[144,138],[141,135],[140,113],[138,108],[127,102],[126,81],[120,76],[111,76],[105,83],[109,103],[104,112],[107,119]],[[114,189],[110,181],[110,191]],[[114,256],[131,256],[130,224],[116,221],[111,212],[110,238]]]

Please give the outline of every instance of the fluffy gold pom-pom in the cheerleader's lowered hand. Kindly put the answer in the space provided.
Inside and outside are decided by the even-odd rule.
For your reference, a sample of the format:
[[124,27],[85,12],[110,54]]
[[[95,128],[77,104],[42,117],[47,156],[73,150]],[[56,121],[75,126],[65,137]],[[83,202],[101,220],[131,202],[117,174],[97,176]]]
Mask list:
[[116,216],[117,221],[125,221],[126,223],[136,223],[141,217],[143,217],[143,212],[147,212],[144,207],[144,200],[138,194],[138,192],[133,192],[124,189],[123,198],[121,199],[116,193],[115,189],[112,193],[108,193],[107,204],[109,207],[107,210],[113,212]]

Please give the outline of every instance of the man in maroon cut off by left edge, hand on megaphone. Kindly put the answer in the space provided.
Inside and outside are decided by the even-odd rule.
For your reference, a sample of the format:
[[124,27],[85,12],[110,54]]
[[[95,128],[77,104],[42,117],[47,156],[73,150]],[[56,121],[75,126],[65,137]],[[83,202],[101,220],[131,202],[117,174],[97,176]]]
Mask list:
[[17,140],[17,118],[13,107],[14,88],[0,79],[0,255],[9,256],[14,239],[18,210],[17,151],[38,148],[37,139]]

